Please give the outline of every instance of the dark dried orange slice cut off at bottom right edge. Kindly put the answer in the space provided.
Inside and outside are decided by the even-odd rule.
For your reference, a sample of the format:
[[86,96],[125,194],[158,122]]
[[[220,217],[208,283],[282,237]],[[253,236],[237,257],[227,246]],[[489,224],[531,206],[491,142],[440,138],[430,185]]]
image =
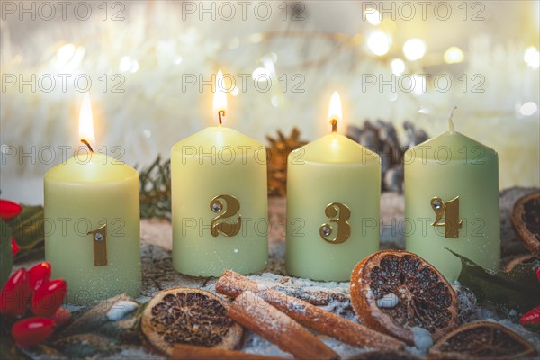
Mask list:
[[537,358],[536,348],[496,322],[465,324],[446,334],[429,349],[430,359],[506,360]]

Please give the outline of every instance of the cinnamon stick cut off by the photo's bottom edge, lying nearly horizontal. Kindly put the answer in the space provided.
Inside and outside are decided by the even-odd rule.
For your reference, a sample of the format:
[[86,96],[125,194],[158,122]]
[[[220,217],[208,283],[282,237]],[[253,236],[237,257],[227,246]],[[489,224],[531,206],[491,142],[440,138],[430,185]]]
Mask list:
[[241,351],[215,347],[196,347],[193,345],[175,345],[174,360],[284,360],[284,357],[262,356]]

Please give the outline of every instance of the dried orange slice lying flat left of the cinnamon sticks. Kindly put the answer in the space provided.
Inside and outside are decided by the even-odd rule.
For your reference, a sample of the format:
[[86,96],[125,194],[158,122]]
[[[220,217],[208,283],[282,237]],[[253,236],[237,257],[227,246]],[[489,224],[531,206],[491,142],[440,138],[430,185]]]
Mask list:
[[159,292],[142,314],[141,329],[150,343],[171,355],[175,344],[236,348],[242,327],[227,317],[229,304],[199,289]]

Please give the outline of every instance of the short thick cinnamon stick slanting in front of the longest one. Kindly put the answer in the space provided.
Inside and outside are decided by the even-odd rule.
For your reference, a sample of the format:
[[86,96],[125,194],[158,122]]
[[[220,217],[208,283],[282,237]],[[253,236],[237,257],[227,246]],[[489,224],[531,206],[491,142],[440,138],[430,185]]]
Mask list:
[[251,329],[298,359],[338,359],[319,338],[265,302],[256,293],[245,292],[230,305],[227,316]]

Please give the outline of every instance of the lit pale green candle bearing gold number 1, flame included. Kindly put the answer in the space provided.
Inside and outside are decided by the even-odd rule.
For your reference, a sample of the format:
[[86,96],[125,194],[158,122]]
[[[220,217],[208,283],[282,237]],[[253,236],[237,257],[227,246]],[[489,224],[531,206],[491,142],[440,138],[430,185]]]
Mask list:
[[45,174],[45,258],[66,279],[67,302],[86,304],[140,290],[139,175],[94,152],[90,97],[79,115],[84,147]]

